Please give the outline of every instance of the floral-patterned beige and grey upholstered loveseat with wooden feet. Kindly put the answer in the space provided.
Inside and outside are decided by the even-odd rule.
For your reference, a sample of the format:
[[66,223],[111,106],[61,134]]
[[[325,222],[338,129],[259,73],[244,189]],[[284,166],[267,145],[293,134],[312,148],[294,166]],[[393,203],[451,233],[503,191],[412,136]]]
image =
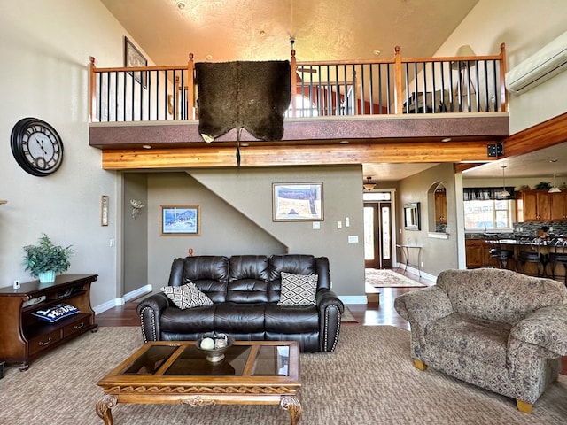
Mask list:
[[467,383],[532,405],[567,355],[567,290],[561,282],[480,268],[446,270],[435,285],[394,301],[411,327],[411,357]]

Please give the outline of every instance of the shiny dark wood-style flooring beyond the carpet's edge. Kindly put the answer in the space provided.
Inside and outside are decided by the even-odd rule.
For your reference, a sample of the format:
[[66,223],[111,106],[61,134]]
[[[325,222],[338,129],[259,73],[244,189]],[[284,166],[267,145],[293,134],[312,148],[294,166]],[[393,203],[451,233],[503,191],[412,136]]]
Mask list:
[[[407,277],[417,282],[429,284],[420,281],[416,274],[406,274]],[[410,290],[419,290],[419,288],[381,288],[380,289],[380,305],[366,304],[348,304],[346,305],[354,319],[361,325],[377,326],[390,325],[397,328],[409,330],[408,321],[402,319],[393,308],[393,300],[404,292]],[[98,314],[96,322],[98,326],[140,326],[140,318],[136,313],[137,301],[133,300],[125,305],[120,305],[106,310],[104,313]],[[562,359],[562,374],[567,375],[567,357]]]

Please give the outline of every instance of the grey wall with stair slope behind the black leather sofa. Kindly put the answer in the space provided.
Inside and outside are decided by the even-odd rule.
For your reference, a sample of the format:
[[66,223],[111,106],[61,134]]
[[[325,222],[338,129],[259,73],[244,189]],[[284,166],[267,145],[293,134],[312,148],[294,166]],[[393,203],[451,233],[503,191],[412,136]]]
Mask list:
[[[361,166],[192,170],[148,174],[148,282],[167,282],[175,257],[306,253],[330,259],[338,295],[364,295]],[[324,220],[272,221],[273,182],[322,182]],[[159,205],[200,205],[200,236],[159,236]],[[345,228],[345,218],[350,227]],[[343,228],[337,228],[337,221]],[[359,243],[348,243],[348,236]]]

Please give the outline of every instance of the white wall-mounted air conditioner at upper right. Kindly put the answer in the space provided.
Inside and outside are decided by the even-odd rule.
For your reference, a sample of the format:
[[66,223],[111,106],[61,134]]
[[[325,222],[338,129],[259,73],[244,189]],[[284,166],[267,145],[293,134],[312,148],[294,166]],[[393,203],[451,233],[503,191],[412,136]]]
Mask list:
[[567,69],[567,31],[506,73],[506,88],[524,93]]

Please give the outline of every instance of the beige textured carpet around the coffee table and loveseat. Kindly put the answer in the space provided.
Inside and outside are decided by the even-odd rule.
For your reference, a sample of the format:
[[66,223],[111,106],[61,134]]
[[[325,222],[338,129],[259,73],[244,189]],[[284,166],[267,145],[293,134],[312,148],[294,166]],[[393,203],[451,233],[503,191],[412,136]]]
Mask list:
[[[0,380],[0,423],[103,425],[96,383],[142,344],[139,328],[100,328],[32,363],[7,368]],[[303,414],[299,425],[514,424],[567,422],[567,376],[534,406],[516,403],[409,359],[409,332],[388,326],[341,328],[333,353],[301,355]],[[288,425],[278,406],[118,405],[116,425]]]

